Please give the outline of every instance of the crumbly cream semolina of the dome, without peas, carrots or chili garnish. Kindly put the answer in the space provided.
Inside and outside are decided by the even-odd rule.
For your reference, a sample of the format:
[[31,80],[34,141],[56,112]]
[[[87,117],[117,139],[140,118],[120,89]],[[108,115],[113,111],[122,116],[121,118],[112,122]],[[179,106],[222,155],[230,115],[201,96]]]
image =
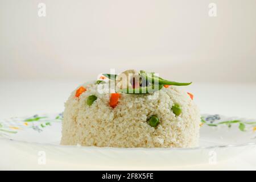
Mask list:
[[[84,84],[86,92],[79,98],[72,92],[65,102],[61,144],[98,147],[196,147],[199,144],[200,112],[184,90],[178,86],[162,88],[156,94],[121,94],[118,105],[109,106],[110,94],[97,92],[96,84]],[[97,96],[91,106],[90,95]],[[176,116],[171,107],[179,104]],[[157,115],[160,124],[148,125]]]

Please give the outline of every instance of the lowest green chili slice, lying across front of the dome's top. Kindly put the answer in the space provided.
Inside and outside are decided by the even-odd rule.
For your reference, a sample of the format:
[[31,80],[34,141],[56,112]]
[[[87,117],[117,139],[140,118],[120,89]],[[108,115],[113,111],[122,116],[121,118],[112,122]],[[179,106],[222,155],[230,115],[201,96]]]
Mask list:
[[148,94],[156,92],[163,88],[163,85],[150,85],[140,88],[126,88],[126,89],[120,89],[118,90],[119,93],[128,93],[128,94]]

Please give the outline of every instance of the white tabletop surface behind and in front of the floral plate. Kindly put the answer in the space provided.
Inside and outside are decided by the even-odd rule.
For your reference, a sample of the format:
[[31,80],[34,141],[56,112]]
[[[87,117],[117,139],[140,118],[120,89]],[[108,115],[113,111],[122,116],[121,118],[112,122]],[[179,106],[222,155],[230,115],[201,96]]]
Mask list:
[[[83,81],[63,80],[0,80],[0,119],[14,116],[42,113],[59,113],[64,109],[64,101],[77,85]],[[256,119],[256,83],[194,83],[187,86],[188,92],[195,96],[201,113],[222,114]],[[1,144],[1,143],[0,143]],[[19,165],[11,164],[7,159],[13,154],[0,150],[0,169],[70,169],[62,164],[49,164],[44,167],[33,166],[32,159],[19,159]],[[73,169],[141,169],[141,168],[83,168]],[[145,168],[146,169],[146,168]],[[151,169],[256,169],[256,150],[247,151],[235,158],[217,162],[217,164],[200,164]]]

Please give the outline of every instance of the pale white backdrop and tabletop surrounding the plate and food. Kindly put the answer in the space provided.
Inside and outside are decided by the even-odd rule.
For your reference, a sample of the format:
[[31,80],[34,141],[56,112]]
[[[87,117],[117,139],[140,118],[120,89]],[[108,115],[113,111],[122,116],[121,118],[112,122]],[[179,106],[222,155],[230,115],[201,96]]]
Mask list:
[[[110,68],[193,81],[185,89],[201,113],[256,119],[255,9],[255,0],[0,0],[0,119],[59,113]],[[253,154],[232,161],[176,169],[256,168]]]

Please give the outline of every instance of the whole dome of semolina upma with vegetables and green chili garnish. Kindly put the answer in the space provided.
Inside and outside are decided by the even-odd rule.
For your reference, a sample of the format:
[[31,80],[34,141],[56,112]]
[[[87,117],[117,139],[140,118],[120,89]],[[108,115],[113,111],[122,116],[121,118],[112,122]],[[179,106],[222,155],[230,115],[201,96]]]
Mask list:
[[[102,92],[110,82],[112,92]],[[193,95],[181,89],[189,84],[134,70],[82,84],[65,102],[61,144],[196,147],[199,109]]]

